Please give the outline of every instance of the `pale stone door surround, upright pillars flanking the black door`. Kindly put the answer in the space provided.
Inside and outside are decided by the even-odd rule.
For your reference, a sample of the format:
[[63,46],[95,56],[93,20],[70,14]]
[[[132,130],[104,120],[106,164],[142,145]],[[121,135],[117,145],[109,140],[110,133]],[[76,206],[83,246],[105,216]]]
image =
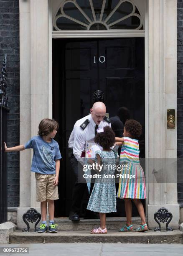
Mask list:
[[[42,118],[51,110],[51,8],[49,0],[20,0],[20,144],[38,131]],[[177,0],[148,1],[148,66],[146,94],[146,156],[177,158],[177,129],[167,129],[167,109],[177,108]],[[22,215],[36,202],[36,182],[30,173],[33,152],[20,152],[20,207],[18,228],[25,227]],[[148,173],[148,168],[147,171]],[[148,173],[148,179],[151,177]],[[177,170],[173,170],[177,177]],[[173,213],[171,227],[178,228],[177,183],[147,185],[147,219],[160,207]]]

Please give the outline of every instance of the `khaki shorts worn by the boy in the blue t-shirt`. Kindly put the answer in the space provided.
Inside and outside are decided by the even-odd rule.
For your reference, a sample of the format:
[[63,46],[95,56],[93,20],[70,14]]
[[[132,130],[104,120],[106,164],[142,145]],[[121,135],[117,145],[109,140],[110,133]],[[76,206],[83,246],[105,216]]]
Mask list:
[[36,201],[43,202],[47,199],[58,199],[58,187],[53,186],[56,174],[41,174],[35,172],[36,177]]

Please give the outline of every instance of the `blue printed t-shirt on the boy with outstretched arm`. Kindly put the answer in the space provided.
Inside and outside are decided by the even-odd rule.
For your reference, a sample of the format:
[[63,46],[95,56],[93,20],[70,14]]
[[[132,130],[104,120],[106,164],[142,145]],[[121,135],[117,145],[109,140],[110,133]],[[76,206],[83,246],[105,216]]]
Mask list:
[[41,136],[34,136],[24,145],[25,148],[33,148],[32,172],[41,174],[55,174],[55,160],[61,159],[58,143],[51,139],[46,142]]

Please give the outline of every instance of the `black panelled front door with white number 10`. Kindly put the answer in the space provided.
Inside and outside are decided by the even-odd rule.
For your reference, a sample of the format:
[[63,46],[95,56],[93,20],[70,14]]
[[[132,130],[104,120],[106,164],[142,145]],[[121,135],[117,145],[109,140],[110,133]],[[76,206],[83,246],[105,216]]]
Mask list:
[[[53,118],[60,125],[56,140],[62,154],[56,216],[69,214],[75,180],[68,140],[76,120],[90,112],[95,90],[104,92],[109,118],[126,107],[142,124],[140,156],[145,157],[144,60],[144,38],[53,39]],[[123,200],[117,200],[113,216],[125,216]]]

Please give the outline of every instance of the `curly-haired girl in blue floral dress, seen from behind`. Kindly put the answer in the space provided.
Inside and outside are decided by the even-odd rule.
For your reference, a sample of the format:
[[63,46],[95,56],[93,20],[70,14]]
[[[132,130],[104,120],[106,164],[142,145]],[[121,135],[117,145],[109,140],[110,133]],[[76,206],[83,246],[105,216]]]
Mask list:
[[91,234],[107,234],[106,213],[116,212],[114,166],[116,164],[117,152],[111,150],[115,142],[115,134],[112,128],[106,126],[98,130],[100,131],[95,136],[94,141],[99,146],[102,146],[103,150],[96,151],[95,160],[89,159],[88,163],[103,164],[103,168],[101,172],[97,171],[100,177],[95,179],[87,209],[93,212],[99,212],[100,216],[100,227],[92,229]]

